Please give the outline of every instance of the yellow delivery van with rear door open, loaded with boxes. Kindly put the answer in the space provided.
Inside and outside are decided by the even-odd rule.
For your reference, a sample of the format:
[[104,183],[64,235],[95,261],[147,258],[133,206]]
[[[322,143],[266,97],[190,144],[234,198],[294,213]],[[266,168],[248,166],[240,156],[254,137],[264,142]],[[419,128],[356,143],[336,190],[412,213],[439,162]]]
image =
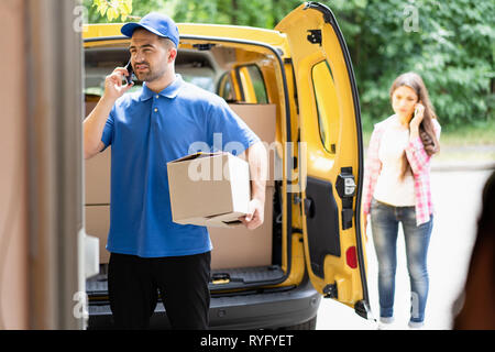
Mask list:
[[[105,77],[129,62],[121,25],[91,24],[84,32],[87,114]],[[321,297],[367,318],[360,103],[333,13],[307,2],[274,30],[178,26],[176,73],[223,97],[270,153],[265,223],[254,231],[209,229],[210,328],[315,329]],[[100,239],[100,273],[86,283],[88,329],[112,326],[105,250],[109,193],[106,151],[86,162],[86,231]],[[168,326],[162,304],[151,326]]]

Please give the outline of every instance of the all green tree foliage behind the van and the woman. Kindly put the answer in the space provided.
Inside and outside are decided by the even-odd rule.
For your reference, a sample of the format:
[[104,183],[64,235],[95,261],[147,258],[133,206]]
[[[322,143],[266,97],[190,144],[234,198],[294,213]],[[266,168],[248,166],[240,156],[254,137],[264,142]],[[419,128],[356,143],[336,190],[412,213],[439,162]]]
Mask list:
[[[129,15],[131,11],[111,12],[110,19],[109,8],[102,13],[103,2],[107,4],[130,2],[132,15]],[[164,11],[177,22],[267,29],[273,29],[279,20],[302,2],[84,0],[90,23],[112,20],[135,21],[150,11]],[[443,127],[458,128],[488,122],[493,125],[494,1],[320,0],[320,2],[332,9],[346,40],[366,129],[370,129],[373,122],[393,113],[388,89],[395,77],[409,70],[424,77]]]

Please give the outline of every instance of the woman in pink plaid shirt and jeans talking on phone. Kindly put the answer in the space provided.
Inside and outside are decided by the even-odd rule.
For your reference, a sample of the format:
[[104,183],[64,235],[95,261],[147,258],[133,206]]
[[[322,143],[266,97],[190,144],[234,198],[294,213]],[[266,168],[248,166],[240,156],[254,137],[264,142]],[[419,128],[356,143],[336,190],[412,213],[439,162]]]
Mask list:
[[433,226],[430,160],[439,152],[440,124],[421,77],[397,77],[392,117],[375,124],[366,157],[363,212],[378,258],[381,322],[394,320],[396,244],[403,224],[411,287],[409,327],[420,328],[428,296],[427,253]]

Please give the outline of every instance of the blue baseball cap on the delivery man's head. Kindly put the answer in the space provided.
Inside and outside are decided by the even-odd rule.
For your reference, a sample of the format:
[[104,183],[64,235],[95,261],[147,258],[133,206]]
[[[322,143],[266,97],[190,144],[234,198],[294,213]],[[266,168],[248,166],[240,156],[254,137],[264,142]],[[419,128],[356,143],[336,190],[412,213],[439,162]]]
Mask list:
[[175,22],[166,14],[151,12],[146,14],[141,21],[125,23],[120,30],[123,35],[132,37],[132,33],[139,28],[145,29],[153,34],[161,37],[167,37],[174,42],[175,46],[178,47],[179,34],[178,28]]

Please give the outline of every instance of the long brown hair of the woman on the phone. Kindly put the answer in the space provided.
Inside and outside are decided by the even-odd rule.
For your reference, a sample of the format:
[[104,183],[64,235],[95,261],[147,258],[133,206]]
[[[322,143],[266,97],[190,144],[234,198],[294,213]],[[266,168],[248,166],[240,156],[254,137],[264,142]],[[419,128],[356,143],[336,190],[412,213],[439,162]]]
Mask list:
[[[437,134],[433,129],[432,119],[438,119],[435,113],[433,107],[430,101],[430,97],[428,95],[428,89],[422,81],[421,76],[415,73],[406,73],[398,76],[391,87],[391,101],[394,91],[399,87],[409,87],[413,89],[418,96],[418,101],[425,106],[425,113],[419,125],[419,138],[421,139],[422,145],[425,145],[425,151],[428,155],[433,155],[440,152],[440,143],[437,139]],[[404,178],[406,173],[410,169],[409,162],[407,161],[406,153],[404,153],[404,162],[403,162],[403,173],[400,178]]]

